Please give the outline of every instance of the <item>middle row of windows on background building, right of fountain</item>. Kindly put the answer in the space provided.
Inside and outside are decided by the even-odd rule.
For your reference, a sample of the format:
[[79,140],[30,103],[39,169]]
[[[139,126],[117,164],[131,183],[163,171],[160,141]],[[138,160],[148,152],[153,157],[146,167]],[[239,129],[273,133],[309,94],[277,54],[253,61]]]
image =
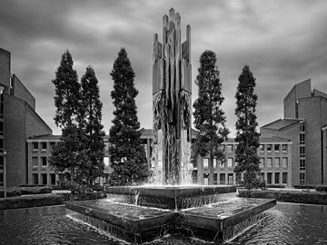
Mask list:
[[[280,169],[281,168],[281,159],[282,159],[282,168],[287,169],[288,168],[288,158],[287,157],[275,157],[274,158],[274,168]],[[219,163],[219,168],[224,169],[225,162],[218,161]],[[272,157],[267,157],[266,162],[264,158],[260,158],[260,168],[272,168]],[[227,168],[228,169],[233,169],[234,167],[234,161],[233,158],[227,158]],[[203,158],[203,169],[208,169],[209,168],[209,159],[208,158]],[[217,161],[216,159],[213,159],[213,169],[217,168]]]

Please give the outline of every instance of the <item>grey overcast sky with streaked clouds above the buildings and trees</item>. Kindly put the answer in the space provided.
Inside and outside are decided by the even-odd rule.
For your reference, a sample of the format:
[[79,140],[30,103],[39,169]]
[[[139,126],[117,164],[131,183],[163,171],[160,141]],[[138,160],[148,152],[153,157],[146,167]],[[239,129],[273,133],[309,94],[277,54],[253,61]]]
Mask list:
[[[193,100],[199,57],[217,54],[223,109],[234,132],[234,94],[243,65],[256,77],[259,125],[282,118],[282,99],[294,83],[312,79],[327,92],[327,1],[51,1],[2,0],[0,47],[12,54],[12,73],[35,95],[36,111],[53,129],[54,73],[61,55],[73,55],[79,79],[87,65],[99,80],[103,124],[113,120],[110,72],[122,46],[134,68],[141,127],[152,128],[153,35],[162,38],[162,16],[171,7],[191,25]],[[230,135],[233,137],[233,133]]]

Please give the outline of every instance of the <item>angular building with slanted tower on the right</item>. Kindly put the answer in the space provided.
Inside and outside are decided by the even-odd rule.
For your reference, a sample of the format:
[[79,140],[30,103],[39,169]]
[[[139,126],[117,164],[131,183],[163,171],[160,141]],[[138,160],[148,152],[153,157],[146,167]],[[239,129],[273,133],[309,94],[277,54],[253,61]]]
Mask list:
[[263,137],[292,141],[292,183],[327,184],[327,94],[297,83],[283,100],[283,119],[261,127]]

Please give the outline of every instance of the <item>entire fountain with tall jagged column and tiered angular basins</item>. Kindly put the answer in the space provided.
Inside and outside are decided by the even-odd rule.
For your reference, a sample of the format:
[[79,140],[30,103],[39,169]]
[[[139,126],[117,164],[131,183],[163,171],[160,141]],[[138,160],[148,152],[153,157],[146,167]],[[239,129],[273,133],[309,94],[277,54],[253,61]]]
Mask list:
[[192,185],[191,27],[181,44],[181,16],[163,16],[163,43],[154,34],[154,177],[151,186],[106,189],[108,198],[67,202],[70,216],[117,238],[142,243],[178,230],[230,240],[266,216],[275,200],[230,198],[235,186]]

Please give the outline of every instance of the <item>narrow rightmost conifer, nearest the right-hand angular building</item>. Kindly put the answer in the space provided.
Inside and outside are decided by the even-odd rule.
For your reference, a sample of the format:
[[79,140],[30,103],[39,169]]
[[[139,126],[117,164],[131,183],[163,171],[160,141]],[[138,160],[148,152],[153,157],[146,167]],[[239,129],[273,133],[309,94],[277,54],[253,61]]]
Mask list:
[[235,172],[243,172],[244,184],[247,189],[258,186],[259,182],[259,147],[260,133],[256,131],[255,106],[257,95],[254,94],[255,78],[248,65],[243,67],[237,86],[236,109],[236,138],[238,145],[235,150],[237,162]]

